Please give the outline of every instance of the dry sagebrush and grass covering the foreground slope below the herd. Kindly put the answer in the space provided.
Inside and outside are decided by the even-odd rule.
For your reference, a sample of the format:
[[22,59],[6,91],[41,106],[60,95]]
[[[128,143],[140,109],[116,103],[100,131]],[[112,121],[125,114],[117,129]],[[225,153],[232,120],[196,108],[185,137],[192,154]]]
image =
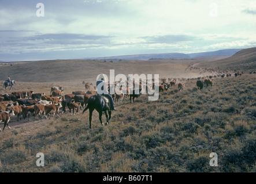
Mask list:
[[[101,125],[94,112],[92,129],[88,112],[81,110],[50,120],[13,117],[12,129],[0,132],[0,172],[255,172],[255,79],[219,77],[202,90],[191,79],[181,91],[177,86],[164,91],[158,101],[140,95],[130,104],[124,98],[115,104],[109,125]],[[66,94],[80,87],[60,84]],[[16,89],[26,85],[17,83]],[[29,83],[45,93],[50,85]],[[38,152],[44,167],[36,166]],[[218,154],[218,167],[209,165],[211,152]]]

